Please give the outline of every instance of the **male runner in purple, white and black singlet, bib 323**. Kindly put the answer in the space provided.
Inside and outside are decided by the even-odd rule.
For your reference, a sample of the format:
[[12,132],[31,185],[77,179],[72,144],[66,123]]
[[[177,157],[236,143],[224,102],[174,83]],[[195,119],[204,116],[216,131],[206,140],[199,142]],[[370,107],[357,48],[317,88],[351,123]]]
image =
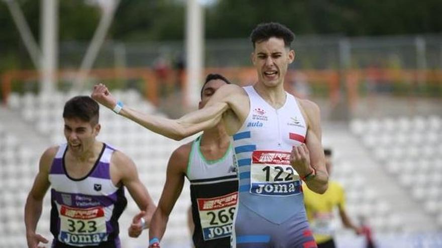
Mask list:
[[124,153],[97,141],[99,106],[87,96],[66,102],[63,111],[67,143],[48,148],[25,205],[28,247],[48,240],[35,233],[43,198],[51,187],[51,232],[54,248],[119,248],[118,218],[126,207],[124,186],[141,212],[129,235],[148,228],[155,211],[134,162]]

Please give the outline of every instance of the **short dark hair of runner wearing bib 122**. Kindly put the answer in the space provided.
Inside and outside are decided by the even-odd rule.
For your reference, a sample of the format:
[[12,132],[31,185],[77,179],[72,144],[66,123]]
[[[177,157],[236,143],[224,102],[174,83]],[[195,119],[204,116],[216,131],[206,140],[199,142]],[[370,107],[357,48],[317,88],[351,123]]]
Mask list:
[[272,37],[283,39],[285,47],[290,47],[292,41],[295,39],[293,32],[279,23],[259,24],[252,31],[252,34],[250,34],[250,40],[252,41],[254,49],[257,42],[267,41]]

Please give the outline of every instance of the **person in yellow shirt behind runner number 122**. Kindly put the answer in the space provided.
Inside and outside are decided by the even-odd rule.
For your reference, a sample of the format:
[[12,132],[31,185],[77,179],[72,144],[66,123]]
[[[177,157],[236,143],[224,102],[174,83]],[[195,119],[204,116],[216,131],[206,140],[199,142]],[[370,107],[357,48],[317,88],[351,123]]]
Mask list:
[[[324,149],[325,167],[328,174],[332,170],[332,150]],[[314,239],[318,248],[334,248],[333,218],[334,209],[338,207],[341,220],[345,227],[352,228],[356,233],[360,233],[360,228],[352,223],[345,209],[345,191],[336,181],[328,181],[328,189],[324,194],[317,194],[311,191],[305,184],[302,185],[304,191],[304,204],[307,219],[313,231]]]

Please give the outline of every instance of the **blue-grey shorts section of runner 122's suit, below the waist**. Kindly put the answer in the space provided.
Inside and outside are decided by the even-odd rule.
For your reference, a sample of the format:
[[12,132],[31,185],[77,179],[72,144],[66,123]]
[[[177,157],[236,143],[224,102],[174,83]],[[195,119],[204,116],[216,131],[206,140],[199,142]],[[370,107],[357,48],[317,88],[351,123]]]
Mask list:
[[305,209],[276,224],[238,203],[232,248],[316,248]]

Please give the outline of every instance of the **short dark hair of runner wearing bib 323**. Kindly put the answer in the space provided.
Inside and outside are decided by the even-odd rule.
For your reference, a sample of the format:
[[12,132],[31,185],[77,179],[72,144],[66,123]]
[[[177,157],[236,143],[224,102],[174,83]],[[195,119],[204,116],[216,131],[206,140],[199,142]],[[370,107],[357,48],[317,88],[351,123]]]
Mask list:
[[98,104],[92,98],[75,96],[64,105],[63,118],[79,118],[94,126],[98,123],[99,110]]

